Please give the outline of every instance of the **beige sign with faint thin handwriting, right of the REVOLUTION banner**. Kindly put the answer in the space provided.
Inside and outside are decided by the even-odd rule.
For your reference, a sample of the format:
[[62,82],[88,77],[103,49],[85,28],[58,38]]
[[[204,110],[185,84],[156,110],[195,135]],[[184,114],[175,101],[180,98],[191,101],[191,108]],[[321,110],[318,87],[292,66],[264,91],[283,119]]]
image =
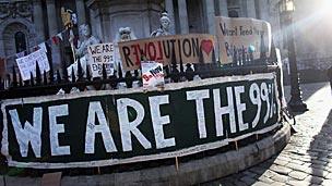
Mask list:
[[271,49],[271,25],[254,18],[215,17],[220,59],[222,63],[232,63],[234,53],[247,55],[252,52],[253,59],[260,58],[261,37],[265,51]]

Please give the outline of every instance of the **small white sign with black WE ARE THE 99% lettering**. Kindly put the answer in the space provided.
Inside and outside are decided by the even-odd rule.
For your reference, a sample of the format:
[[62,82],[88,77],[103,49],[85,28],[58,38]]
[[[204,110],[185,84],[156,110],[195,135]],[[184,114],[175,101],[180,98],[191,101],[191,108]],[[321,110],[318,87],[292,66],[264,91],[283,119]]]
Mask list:
[[87,52],[93,77],[103,76],[103,65],[105,65],[107,76],[114,74],[114,45],[111,42],[88,46]]

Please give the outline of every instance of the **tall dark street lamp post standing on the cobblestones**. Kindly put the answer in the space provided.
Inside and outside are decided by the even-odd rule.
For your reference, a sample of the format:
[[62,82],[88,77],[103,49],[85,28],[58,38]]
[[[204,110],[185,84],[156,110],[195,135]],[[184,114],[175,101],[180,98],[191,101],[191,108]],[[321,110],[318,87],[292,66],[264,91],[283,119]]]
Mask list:
[[286,22],[287,28],[287,47],[288,47],[288,60],[290,67],[290,100],[288,107],[294,112],[307,111],[307,104],[304,103],[301,98],[301,90],[298,83],[298,72],[296,62],[296,52],[294,45],[294,26],[293,26],[293,13],[295,11],[293,0],[282,0],[280,4],[280,11]]

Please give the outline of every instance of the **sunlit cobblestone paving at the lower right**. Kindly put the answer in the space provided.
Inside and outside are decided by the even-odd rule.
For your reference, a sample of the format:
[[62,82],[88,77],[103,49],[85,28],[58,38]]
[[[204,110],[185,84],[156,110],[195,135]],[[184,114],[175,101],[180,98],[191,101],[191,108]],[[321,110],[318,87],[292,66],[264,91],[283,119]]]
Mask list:
[[[332,97],[328,83],[301,85],[309,111],[296,116],[296,129],[285,149],[244,172],[202,185],[332,186]],[[286,98],[289,87],[285,87]],[[289,98],[288,98],[289,99]]]

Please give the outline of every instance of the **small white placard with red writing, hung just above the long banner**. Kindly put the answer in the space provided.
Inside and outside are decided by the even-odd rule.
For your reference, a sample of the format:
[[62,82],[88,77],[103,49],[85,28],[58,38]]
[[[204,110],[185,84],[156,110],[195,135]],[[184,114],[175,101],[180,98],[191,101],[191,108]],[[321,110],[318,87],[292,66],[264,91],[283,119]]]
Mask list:
[[141,66],[143,88],[163,86],[165,84],[163,63],[157,63],[155,61],[146,61],[142,62]]

